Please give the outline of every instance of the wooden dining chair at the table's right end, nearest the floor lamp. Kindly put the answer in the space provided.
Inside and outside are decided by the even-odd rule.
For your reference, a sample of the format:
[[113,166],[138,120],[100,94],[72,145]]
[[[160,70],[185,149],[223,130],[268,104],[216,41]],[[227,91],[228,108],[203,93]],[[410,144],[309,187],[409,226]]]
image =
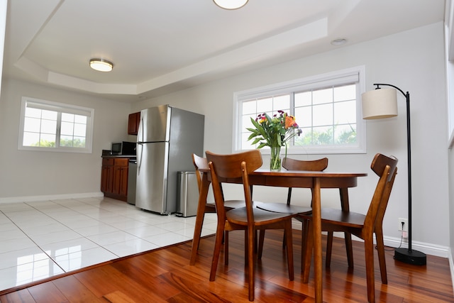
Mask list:
[[[392,185],[397,175],[397,158],[387,157],[377,153],[370,168],[380,177],[375,187],[367,214],[358,214],[353,211],[341,209],[321,209],[321,230],[334,232],[343,231],[352,233],[364,240],[366,278],[367,278],[367,299],[375,302],[375,275],[374,275],[374,233],[377,241],[377,253],[380,263],[380,275],[382,283],[387,284],[386,262],[384,259],[384,242],[382,222],[391,194]],[[311,249],[313,247],[311,215],[302,216],[309,221],[309,228],[306,228],[306,250],[304,251],[303,281],[309,280],[309,268],[311,265]],[[326,266],[331,261],[331,250],[333,237],[328,236],[326,248]],[[329,260],[329,261],[328,261]]]

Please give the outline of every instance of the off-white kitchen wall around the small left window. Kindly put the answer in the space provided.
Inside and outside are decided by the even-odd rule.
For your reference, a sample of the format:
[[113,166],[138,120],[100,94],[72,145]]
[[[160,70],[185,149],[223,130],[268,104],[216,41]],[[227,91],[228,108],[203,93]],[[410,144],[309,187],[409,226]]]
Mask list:
[[[21,97],[33,97],[94,109],[93,153],[18,150]],[[89,97],[37,84],[4,80],[0,98],[0,202],[18,197],[101,194],[101,150],[128,138],[130,104]]]

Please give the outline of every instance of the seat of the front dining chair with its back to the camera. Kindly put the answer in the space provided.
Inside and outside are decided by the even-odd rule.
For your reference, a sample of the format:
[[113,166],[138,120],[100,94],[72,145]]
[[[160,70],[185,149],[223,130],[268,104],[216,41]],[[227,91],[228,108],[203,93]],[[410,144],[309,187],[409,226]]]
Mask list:
[[[260,226],[264,224],[272,224],[273,221],[292,216],[291,214],[279,214],[272,211],[265,211],[258,208],[253,208],[254,225]],[[248,225],[248,216],[246,214],[246,207],[232,209],[226,212],[226,219],[233,224]]]

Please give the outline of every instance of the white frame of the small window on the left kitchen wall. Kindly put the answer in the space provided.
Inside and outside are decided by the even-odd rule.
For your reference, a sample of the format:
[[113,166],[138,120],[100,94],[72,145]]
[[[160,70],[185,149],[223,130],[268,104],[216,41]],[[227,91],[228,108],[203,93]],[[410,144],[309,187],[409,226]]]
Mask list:
[[[58,146],[58,147],[43,147],[43,146],[26,146],[23,145],[23,131],[26,115],[26,107],[28,103],[34,104],[41,109],[50,109],[52,111],[57,111],[59,113],[67,114],[79,114],[82,116],[87,116],[87,130],[85,133],[85,147],[84,148],[74,148],[67,146]],[[61,115],[59,114],[59,117]],[[35,150],[35,151],[50,151],[50,152],[60,152],[60,153],[92,153],[93,146],[93,118],[94,118],[94,109],[88,107],[82,107],[72,104],[65,104],[55,101],[48,101],[42,99],[35,99],[31,97],[22,97],[21,101],[21,123],[19,126],[19,136],[18,136],[18,150]],[[61,118],[59,118],[61,119]],[[57,131],[57,136],[58,136]]]

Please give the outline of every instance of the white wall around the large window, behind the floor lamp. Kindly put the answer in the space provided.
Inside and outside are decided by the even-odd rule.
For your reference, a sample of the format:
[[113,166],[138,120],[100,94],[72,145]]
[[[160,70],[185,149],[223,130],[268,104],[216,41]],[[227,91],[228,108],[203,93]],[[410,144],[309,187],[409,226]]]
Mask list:
[[[411,94],[413,246],[441,246],[441,255],[449,246],[448,149],[445,101],[443,23],[436,23],[397,35],[372,40],[328,53],[301,58],[282,65],[256,70],[181,92],[133,104],[133,111],[159,104],[171,104],[206,116],[205,150],[215,153],[232,151],[233,92],[267,84],[319,75],[334,70],[365,65],[367,89],[375,82],[394,84]],[[304,117],[297,117],[297,120]],[[369,172],[350,190],[350,209],[365,211],[377,178],[370,170],[375,153],[399,158],[399,174],[394,184],[384,234],[389,244],[400,240],[398,218],[407,218],[406,114],[405,99],[399,94],[399,116],[367,121],[367,154],[328,155],[329,170]],[[318,158],[320,155],[300,155]],[[303,189],[301,189],[303,190]],[[238,191],[226,190],[238,197]],[[254,198],[261,201],[284,201],[285,190],[257,188]],[[338,194],[322,192],[323,204],[338,205]],[[393,242],[394,241],[394,242]],[[399,243],[397,243],[399,245]]]

